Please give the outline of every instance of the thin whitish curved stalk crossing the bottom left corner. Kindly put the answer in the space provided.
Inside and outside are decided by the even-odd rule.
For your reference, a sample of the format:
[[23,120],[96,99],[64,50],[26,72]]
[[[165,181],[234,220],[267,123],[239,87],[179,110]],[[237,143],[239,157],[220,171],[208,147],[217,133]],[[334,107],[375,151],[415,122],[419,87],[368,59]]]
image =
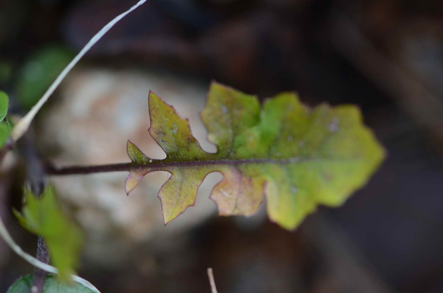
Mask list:
[[[58,274],[58,270],[54,266],[48,265],[47,263],[43,263],[43,262],[39,261],[38,259],[36,259],[35,257],[33,257],[32,255],[29,255],[28,253],[24,252],[23,249],[21,247],[19,247],[19,245],[16,244],[16,242],[12,239],[8,230],[4,226],[1,218],[0,218],[0,236],[3,238],[3,240],[6,242],[6,244],[8,244],[9,247],[11,247],[11,249],[16,254],[21,256],[24,260],[26,260],[31,265],[38,267],[39,269],[45,270],[48,273]],[[92,285],[90,282],[86,281],[85,279],[80,278],[79,276],[76,276],[76,275],[71,275],[71,276],[75,282],[78,282],[78,283],[84,285],[85,287],[91,289],[92,291],[94,291],[96,293],[100,293],[100,291],[98,291],[98,289],[95,288],[94,285]]]

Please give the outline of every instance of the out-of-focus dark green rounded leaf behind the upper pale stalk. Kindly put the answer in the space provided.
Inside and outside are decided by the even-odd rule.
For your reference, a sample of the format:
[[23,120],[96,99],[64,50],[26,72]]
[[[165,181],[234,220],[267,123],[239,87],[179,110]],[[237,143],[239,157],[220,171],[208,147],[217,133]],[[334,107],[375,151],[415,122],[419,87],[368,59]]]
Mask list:
[[23,65],[17,81],[17,97],[22,106],[34,106],[72,57],[60,46],[46,47],[33,54]]

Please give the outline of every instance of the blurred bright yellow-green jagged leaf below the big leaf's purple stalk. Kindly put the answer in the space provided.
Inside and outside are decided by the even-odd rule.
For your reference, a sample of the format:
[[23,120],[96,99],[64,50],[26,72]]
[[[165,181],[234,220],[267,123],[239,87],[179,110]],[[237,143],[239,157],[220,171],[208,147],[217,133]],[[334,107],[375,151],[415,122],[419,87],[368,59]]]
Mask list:
[[16,210],[13,213],[24,228],[43,237],[60,278],[69,280],[78,262],[82,232],[62,213],[51,186],[45,187],[40,198],[28,189],[24,194],[23,214]]

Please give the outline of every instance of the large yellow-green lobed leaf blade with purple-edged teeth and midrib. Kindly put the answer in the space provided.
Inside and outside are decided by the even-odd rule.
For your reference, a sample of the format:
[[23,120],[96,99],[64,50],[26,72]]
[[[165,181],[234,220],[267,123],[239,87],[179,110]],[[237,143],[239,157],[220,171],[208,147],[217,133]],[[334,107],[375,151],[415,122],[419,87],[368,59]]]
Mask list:
[[158,194],[165,225],[194,204],[205,176],[219,171],[223,179],[210,198],[220,215],[252,215],[264,198],[269,218],[294,229],[317,205],[341,205],[385,157],[357,107],[310,109],[292,92],[260,108],[255,96],[212,83],[201,117],[217,153],[205,152],[187,120],[153,92],[149,114],[149,133],[167,156],[152,160],[128,141],[134,166],[125,189],[148,172],[170,172]]

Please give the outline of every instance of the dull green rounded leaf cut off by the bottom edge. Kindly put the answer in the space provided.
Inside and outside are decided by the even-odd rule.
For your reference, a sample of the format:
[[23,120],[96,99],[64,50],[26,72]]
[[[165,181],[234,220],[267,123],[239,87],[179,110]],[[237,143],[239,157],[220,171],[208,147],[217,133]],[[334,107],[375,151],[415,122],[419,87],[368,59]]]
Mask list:
[[[28,293],[31,291],[32,276],[19,278],[6,291],[6,293]],[[47,275],[42,293],[95,293],[93,290],[79,283],[72,285],[60,282],[52,275]]]

